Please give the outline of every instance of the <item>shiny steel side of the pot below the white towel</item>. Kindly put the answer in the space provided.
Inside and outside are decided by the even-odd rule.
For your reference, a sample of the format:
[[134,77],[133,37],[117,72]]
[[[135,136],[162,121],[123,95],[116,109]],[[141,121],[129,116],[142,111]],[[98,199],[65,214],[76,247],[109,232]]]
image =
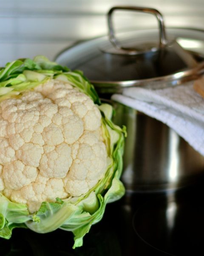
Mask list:
[[204,173],[204,157],[173,129],[125,105],[114,107],[114,122],[127,127],[122,176],[127,190],[175,189]]

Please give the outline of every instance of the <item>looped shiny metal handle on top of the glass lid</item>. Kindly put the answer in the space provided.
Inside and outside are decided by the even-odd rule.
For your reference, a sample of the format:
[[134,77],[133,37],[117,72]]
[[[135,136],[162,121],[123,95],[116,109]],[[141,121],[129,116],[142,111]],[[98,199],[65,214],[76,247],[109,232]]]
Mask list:
[[119,42],[117,41],[114,29],[113,29],[113,22],[112,22],[112,14],[116,10],[130,10],[130,11],[136,11],[136,12],[144,12],[144,13],[150,13],[156,16],[158,23],[159,23],[159,47],[165,47],[167,45],[167,38],[166,38],[166,32],[164,28],[164,19],[161,13],[153,8],[146,8],[146,7],[134,7],[134,6],[114,6],[112,7],[108,12],[108,35],[109,40],[113,44],[114,47],[116,47],[119,50],[122,51],[133,51],[133,49],[130,48],[123,48],[120,46]]

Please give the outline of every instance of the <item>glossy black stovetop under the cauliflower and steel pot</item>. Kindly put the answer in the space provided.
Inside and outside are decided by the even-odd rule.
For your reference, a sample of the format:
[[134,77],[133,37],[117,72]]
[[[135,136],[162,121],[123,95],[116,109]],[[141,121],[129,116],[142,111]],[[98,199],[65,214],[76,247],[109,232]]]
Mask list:
[[72,233],[37,234],[16,229],[0,239],[1,256],[204,255],[204,180],[176,191],[133,193],[108,204],[83,247],[72,249]]

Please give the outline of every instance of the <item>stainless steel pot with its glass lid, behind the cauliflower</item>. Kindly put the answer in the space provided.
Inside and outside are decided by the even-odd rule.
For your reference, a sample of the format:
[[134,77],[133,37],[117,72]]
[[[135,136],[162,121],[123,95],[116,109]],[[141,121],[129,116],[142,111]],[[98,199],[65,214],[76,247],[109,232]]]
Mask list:
[[[112,25],[112,14],[118,9],[155,15],[159,30],[121,33],[119,43]],[[113,7],[108,12],[108,26],[109,37],[76,44],[56,58],[59,64],[82,70],[105,100],[124,87],[164,88],[204,73],[204,31],[165,29],[157,10],[130,6]],[[204,157],[175,131],[132,108],[112,104],[114,122],[127,127],[122,176],[127,190],[174,189],[204,175]]]

